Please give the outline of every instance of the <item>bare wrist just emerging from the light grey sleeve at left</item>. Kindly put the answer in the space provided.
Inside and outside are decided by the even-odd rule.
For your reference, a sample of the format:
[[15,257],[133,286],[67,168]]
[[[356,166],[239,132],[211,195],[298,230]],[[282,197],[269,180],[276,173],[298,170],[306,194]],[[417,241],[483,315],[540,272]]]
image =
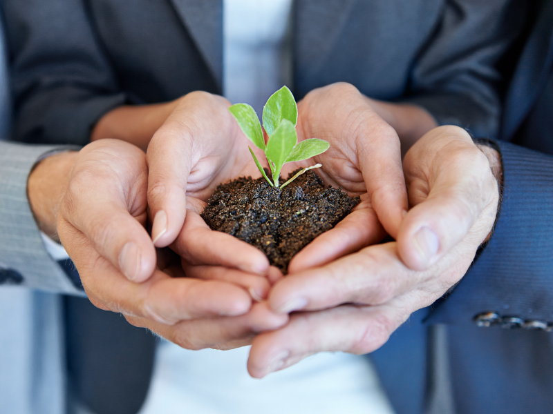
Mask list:
[[28,177],[27,195],[40,230],[59,241],[56,232],[57,210],[69,183],[78,152],[52,155],[35,166]]

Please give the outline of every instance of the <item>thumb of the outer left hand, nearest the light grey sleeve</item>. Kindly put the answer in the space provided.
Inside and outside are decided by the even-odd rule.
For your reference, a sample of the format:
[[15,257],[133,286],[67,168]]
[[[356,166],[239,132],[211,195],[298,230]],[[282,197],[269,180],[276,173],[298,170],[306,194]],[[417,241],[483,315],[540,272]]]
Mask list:
[[[142,207],[135,215],[144,215],[145,185],[144,179],[144,199],[133,201]],[[106,179],[93,172],[79,172],[69,184],[58,217],[82,232],[97,253],[129,280],[143,282],[156,266],[156,250],[144,226],[129,213],[133,203],[124,199],[119,188],[113,183],[106,185]]]

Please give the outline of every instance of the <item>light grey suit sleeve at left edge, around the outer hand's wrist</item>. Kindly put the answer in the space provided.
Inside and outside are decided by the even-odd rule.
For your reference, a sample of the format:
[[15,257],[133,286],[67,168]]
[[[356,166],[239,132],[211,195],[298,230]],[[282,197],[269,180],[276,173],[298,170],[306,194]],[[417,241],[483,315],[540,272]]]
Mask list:
[[44,247],[27,198],[27,179],[37,160],[62,146],[0,141],[0,284],[82,295]]

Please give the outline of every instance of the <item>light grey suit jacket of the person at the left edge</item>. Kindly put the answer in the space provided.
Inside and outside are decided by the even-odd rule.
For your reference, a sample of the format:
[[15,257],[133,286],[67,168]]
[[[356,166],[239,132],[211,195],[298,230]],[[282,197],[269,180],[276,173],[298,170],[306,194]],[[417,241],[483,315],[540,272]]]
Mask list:
[[[55,146],[5,141],[9,106],[0,42],[0,412],[63,413],[65,358],[59,295],[77,293],[54,262],[30,212],[26,182],[39,157]],[[17,284],[25,284],[30,290]]]

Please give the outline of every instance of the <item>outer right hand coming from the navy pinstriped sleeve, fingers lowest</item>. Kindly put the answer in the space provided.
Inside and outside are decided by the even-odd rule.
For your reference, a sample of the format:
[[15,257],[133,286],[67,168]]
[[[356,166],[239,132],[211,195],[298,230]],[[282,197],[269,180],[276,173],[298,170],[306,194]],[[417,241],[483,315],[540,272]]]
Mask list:
[[[254,339],[252,376],[321,351],[375,351],[411,313],[465,275],[497,213],[498,185],[487,157],[464,130],[440,127],[409,150],[404,170],[413,208],[397,243],[370,246],[279,281],[271,307],[302,312]],[[411,270],[402,258],[425,270]]]

